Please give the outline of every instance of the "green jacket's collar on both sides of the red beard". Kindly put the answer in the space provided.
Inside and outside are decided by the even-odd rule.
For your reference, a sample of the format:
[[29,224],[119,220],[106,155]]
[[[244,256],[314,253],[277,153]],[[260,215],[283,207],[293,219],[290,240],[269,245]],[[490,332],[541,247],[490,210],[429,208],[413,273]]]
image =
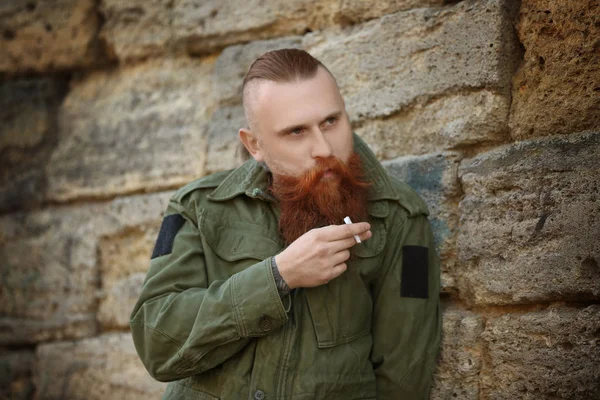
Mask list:
[[[394,190],[392,182],[381,165],[381,163],[375,157],[375,154],[369,149],[367,144],[356,134],[353,134],[354,138],[354,151],[356,151],[364,165],[365,174],[371,181],[372,186],[369,189],[368,199],[370,202],[378,200],[398,200],[399,194]],[[230,200],[241,194],[246,194],[252,198],[263,198],[269,200],[267,194],[268,189],[268,177],[269,172],[260,163],[254,159],[250,159],[242,164],[237,169],[233,170],[231,174],[221,182],[221,184],[208,195],[210,200],[214,201],[226,201]],[[370,207],[372,215],[387,214],[386,210],[382,209],[382,206]],[[380,210],[378,210],[380,209]]]

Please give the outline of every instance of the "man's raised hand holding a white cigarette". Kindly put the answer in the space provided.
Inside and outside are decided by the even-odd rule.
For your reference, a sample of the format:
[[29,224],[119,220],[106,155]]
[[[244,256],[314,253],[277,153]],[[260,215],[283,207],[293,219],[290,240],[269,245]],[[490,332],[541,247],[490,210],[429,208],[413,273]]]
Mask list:
[[370,229],[367,222],[359,222],[310,230],[275,256],[279,274],[291,289],[324,285],[346,271],[354,235],[367,240]]

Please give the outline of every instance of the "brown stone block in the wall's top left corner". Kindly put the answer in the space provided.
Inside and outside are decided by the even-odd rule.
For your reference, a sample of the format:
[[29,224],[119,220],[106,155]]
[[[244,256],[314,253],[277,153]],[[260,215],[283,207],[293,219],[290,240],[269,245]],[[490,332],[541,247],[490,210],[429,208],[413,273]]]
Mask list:
[[95,0],[3,1],[0,72],[51,71],[100,61]]

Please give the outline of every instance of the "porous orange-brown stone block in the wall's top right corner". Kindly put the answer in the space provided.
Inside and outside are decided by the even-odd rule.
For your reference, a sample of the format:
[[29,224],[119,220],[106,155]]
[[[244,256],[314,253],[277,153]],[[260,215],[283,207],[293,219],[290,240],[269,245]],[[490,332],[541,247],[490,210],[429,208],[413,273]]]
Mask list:
[[523,0],[525,47],[515,75],[515,139],[600,128],[600,2]]

